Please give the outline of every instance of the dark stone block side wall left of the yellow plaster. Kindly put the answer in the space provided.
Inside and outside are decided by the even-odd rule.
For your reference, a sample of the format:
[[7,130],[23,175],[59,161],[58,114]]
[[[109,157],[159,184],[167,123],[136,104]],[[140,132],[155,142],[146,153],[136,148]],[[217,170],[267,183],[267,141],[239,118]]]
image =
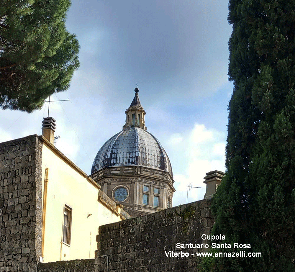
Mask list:
[[0,144],[0,271],[34,271],[41,255],[41,151],[37,135]]

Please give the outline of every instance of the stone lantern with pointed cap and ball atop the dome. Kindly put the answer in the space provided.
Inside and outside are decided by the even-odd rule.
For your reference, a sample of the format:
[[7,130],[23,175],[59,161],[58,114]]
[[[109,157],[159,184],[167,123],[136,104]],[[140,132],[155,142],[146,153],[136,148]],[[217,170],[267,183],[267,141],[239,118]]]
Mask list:
[[123,130],[128,130],[131,127],[140,127],[144,130],[147,130],[145,127],[145,110],[141,106],[138,92],[139,89],[137,88],[137,83],[136,83],[136,88],[134,89],[135,91],[135,96],[129,106],[129,108],[126,110],[126,121],[125,125],[123,126]]

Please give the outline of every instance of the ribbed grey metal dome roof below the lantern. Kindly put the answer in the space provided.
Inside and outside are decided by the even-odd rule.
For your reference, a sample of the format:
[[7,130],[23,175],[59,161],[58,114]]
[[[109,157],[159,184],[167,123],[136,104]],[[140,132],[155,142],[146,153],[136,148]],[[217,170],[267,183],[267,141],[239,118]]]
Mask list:
[[104,167],[127,165],[168,171],[173,177],[170,160],[160,142],[139,127],[122,130],[107,140],[94,159],[91,174]]

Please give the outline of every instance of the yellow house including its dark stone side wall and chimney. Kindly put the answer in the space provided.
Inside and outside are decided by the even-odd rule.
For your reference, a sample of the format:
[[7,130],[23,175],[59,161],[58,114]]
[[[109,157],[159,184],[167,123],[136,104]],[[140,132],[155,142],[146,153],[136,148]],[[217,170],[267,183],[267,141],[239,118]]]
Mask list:
[[10,269],[5,271],[22,271],[34,256],[46,263],[94,258],[99,226],[131,218],[55,148],[55,120],[42,123],[41,136],[0,143],[0,267]]

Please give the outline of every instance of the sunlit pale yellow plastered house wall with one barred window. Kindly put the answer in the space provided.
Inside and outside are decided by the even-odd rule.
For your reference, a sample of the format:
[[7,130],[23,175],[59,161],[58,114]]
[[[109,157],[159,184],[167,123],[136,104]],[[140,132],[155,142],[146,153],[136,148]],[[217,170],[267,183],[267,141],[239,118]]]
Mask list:
[[45,137],[40,140],[44,261],[94,258],[98,227],[121,220],[121,209]]

